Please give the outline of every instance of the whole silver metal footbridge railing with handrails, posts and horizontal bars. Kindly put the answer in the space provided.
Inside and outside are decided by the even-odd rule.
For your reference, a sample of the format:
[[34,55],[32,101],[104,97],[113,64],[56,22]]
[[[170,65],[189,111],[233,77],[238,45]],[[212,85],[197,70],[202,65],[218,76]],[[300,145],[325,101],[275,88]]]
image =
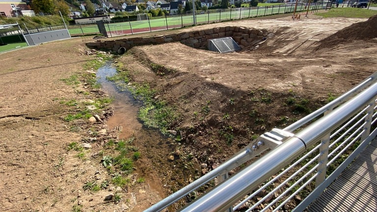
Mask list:
[[[377,73],[296,123],[262,134],[145,212],[162,211],[214,178],[218,185],[180,211],[303,211],[376,137],[376,81]],[[230,170],[266,150],[228,178]]]

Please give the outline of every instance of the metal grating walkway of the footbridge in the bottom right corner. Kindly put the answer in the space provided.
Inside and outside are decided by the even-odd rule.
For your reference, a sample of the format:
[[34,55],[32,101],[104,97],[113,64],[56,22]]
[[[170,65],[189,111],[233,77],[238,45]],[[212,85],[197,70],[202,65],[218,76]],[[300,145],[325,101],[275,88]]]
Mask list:
[[308,207],[307,211],[377,211],[377,138]]

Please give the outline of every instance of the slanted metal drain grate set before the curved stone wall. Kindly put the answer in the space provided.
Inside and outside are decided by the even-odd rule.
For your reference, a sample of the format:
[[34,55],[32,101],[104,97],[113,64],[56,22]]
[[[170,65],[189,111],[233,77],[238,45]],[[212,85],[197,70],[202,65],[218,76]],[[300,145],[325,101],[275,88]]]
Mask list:
[[231,37],[208,40],[208,49],[213,52],[229,53],[241,50],[241,47]]

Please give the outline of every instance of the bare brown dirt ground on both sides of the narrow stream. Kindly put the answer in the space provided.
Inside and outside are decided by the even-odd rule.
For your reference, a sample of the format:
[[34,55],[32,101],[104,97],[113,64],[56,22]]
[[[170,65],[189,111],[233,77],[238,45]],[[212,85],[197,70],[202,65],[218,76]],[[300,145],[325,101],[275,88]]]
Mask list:
[[[87,48],[80,38],[0,54],[0,211],[148,208],[210,171],[253,136],[294,122],[374,73],[376,20],[309,16],[195,27],[242,26],[273,33],[257,50],[238,53],[213,53],[179,43],[131,49],[118,61],[134,82],[148,82],[159,91],[158,99],[176,106],[181,118],[172,130],[181,133],[182,142],[154,143],[154,132],[135,132],[135,145],[142,153],[136,169],[146,183],[119,189],[108,185],[96,192],[83,185],[113,177],[98,157],[103,145],[116,137],[113,126],[83,119],[81,130],[73,131],[63,117],[75,108],[59,103],[106,96],[61,80],[85,73],[83,65],[95,56],[84,54]],[[151,62],[174,72],[156,75]],[[99,113],[105,121],[106,111]],[[83,158],[67,150],[70,143],[86,142],[94,136],[91,132],[103,129],[107,132],[95,135]],[[179,157],[171,161],[173,153]],[[181,170],[188,162],[193,169]],[[136,178],[130,177],[131,182]],[[104,201],[109,193],[119,193],[120,202]]]

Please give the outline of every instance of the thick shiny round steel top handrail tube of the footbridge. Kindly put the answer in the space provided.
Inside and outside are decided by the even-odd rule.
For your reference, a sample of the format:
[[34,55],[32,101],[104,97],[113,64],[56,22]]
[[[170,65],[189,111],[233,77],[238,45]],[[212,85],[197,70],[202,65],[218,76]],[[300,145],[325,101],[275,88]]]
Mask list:
[[331,113],[323,116],[302,131],[269,153],[258,159],[252,165],[214,187],[198,199],[184,207],[181,212],[218,212],[226,211],[237,200],[265,182],[270,176],[289,164],[307,147],[312,146],[325,134],[334,130],[341,123],[357,113],[377,95],[377,83],[358,94],[355,98]]

